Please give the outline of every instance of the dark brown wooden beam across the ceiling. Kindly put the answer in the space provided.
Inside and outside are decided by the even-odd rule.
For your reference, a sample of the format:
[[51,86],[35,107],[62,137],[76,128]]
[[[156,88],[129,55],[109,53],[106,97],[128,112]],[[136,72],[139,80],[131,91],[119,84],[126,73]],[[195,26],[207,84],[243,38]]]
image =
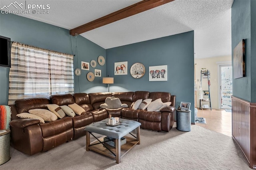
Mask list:
[[133,4],[131,6],[128,6],[116,12],[113,12],[111,14],[98,18],[97,20],[94,20],[92,22],[88,22],[87,24],[73,28],[72,30],[70,30],[70,35],[75,36],[76,33],[82,34],[84,32],[93,30],[95,28],[99,28],[101,26],[110,24],[112,22],[116,22],[118,20],[122,20],[129,16],[133,16],[140,12],[150,10],[152,8],[158,7],[160,5],[163,5],[172,1],[174,0],[143,0],[136,4]]

